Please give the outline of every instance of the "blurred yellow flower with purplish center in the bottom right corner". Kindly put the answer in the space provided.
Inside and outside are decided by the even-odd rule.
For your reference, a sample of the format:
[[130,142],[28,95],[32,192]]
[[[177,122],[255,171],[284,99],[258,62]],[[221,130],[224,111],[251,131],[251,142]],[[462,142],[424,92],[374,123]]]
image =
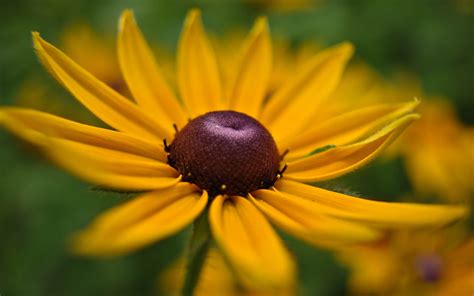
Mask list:
[[[459,225],[458,225],[459,226]],[[471,295],[474,239],[463,227],[397,232],[339,254],[353,295]]]

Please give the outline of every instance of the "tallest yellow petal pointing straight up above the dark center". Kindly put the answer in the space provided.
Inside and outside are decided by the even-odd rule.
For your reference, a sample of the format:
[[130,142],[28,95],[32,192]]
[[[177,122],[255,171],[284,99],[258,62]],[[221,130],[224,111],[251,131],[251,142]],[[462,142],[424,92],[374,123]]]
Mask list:
[[178,86],[192,117],[220,109],[217,61],[197,9],[188,13],[179,40]]

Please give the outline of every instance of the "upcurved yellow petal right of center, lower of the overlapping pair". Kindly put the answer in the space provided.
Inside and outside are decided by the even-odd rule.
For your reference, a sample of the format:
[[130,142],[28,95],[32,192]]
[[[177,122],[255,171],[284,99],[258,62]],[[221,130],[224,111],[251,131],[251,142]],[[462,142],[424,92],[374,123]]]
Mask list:
[[405,115],[360,142],[290,162],[285,178],[313,182],[347,174],[378,156],[413,120],[418,118],[417,114]]

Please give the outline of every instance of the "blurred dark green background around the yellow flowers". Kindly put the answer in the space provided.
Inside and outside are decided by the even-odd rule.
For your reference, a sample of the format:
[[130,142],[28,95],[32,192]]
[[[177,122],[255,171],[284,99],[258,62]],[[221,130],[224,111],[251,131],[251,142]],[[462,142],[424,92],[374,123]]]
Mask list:
[[[113,44],[120,12],[132,8],[148,40],[173,53],[187,10],[200,7],[206,28],[215,36],[246,31],[255,17],[265,14],[273,36],[295,48],[308,42],[332,45],[350,40],[356,60],[388,80],[400,72],[413,73],[426,96],[449,98],[458,120],[474,124],[473,1],[319,0],[290,6],[271,2],[0,0],[0,105],[35,106],[51,98],[54,108],[46,103],[46,109],[93,121],[41,67],[31,31],[64,44],[67,28],[86,24]],[[70,50],[74,46],[82,50],[80,44]],[[43,103],[31,99],[32,93],[43,97],[38,99]],[[407,94],[407,99],[414,95]],[[189,229],[125,257],[74,257],[67,251],[68,237],[130,196],[95,190],[5,130],[0,130],[0,147],[1,295],[160,293],[157,277],[183,253]],[[473,172],[468,173],[474,182]],[[400,156],[382,158],[321,185],[379,200],[398,200],[414,191]],[[334,255],[284,237],[298,260],[301,294],[347,294],[349,271]]]

